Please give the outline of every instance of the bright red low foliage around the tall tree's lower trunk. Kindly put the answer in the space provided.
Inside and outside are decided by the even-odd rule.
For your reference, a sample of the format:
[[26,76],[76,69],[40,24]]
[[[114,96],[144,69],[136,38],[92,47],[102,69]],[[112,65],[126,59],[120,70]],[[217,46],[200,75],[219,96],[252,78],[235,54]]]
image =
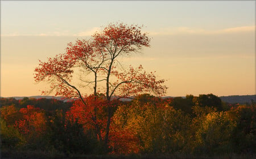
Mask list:
[[[86,97],[84,99],[88,105],[84,105],[81,100],[76,100],[72,108],[67,111],[66,117],[69,121],[82,124],[84,131],[94,130],[97,133],[97,128],[100,128],[100,134],[97,134],[98,140],[104,139],[106,122],[108,119],[108,101],[104,96],[95,99],[93,96]],[[119,105],[118,100],[111,102],[112,107]],[[94,111],[97,109],[97,120],[94,120]],[[132,130],[126,128],[118,128],[116,126],[110,126],[109,132],[109,147],[112,149],[112,154],[129,154],[138,153],[139,147],[138,137]]]

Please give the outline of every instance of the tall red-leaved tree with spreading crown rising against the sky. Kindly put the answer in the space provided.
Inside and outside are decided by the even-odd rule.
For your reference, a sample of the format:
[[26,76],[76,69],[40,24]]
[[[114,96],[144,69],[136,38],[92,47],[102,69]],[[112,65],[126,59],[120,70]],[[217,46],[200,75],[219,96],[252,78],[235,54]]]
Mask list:
[[[93,85],[94,100],[98,93],[103,93],[108,101],[108,119],[105,128],[104,145],[109,140],[109,127],[112,117],[111,101],[113,97],[122,98],[135,96],[142,92],[152,92],[163,95],[167,87],[164,80],[157,80],[153,72],[147,74],[143,67],[125,69],[120,57],[138,53],[144,47],[150,47],[150,38],[141,32],[138,25],[112,24],[107,25],[101,32],[96,32],[89,40],[77,40],[75,44],[68,44],[64,54],[48,58],[47,62],[39,61],[35,68],[35,81],[49,81],[51,83],[49,93],[55,91],[55,95],[65,97],[79,97],[82,104],[87,106],[85,94],[81,92],[83,87]],[[81,86],[72,83],[72,75],[75,70],[80,70]],[[85,80],[86,75],[92,75],[91,80]],[[105,83],[105,87],[97,87],[99,83]],[[98,136],[101,136],[97,128],[97,106],[94,105],[92,116]],[[102,140],[103,141],[103,140]]]

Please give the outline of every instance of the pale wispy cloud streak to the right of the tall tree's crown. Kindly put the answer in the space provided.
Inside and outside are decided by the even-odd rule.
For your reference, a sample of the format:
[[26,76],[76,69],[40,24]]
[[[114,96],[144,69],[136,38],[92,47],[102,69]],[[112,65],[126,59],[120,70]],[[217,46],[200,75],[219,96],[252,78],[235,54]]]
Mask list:
[[207,30],[200,28],[177,27],[177,28],[162,28],[159,31],[148,31],[150,35],[179,35],[179,34],[197,34],[197,35],[213,35],[225,33],[241,33],[255,32],[255,26],[243,26],[234,28],[225,28],[218,30]]

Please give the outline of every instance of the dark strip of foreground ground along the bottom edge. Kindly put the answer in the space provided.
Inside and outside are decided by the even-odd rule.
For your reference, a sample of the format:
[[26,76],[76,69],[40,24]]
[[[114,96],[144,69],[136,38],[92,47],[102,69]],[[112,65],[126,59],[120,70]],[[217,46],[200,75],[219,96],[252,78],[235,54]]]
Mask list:
[[256,159],[256,154],[221,154],[195,156],[191,154],[128,154],[84,155],[34,151],[1,151],[1,159]]

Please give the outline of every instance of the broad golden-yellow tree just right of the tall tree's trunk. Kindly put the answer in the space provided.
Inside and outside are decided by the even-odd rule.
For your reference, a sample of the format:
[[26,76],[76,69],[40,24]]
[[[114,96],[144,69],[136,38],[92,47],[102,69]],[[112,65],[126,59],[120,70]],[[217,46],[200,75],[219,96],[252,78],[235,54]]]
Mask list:
[[[146,98],[150,102],[145,102]],[[118,149],[114,151],[184,152],[187,145],[185,135],[190,124],[188,115],[168,106],[168,101],[161,101],[160,98],[142,94],[136,99],[130,105],[120,106],[114,113],[112,126],[115,126],[115,133],[110,136],[110,140],[115,140],[115,145],[118,145]],[[121,130],[131,132],[127,133],[129,135],[119,136],[116,132]]]

